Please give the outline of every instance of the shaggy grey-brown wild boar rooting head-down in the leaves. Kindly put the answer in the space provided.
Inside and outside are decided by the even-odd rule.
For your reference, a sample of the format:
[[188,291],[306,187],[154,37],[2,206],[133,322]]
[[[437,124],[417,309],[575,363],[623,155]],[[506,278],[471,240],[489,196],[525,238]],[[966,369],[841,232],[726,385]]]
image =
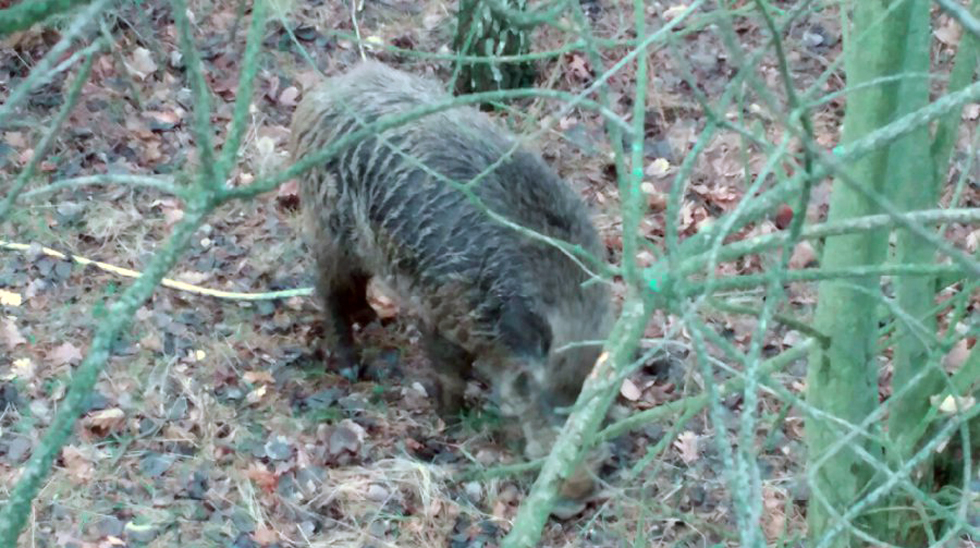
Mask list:
[[[448,96],[435,83],[365,62],[306,94],[292,123],[294,160],[365,124]],[[458,107],[351,144],[301,179],[307,241],[325,309],[325,347],[353,365],[353,322],[373,311],[365,288],[383,282],[420,316],[445,413],[462,403],[470,369],[519,417],[529,456],[544,454],[611,323],[610,295],[564,252],[491,219],[449,181],[466,184],[515,140]],[[423,167],[424,166],[424,167]],[[604,247],[580,198],[518,147],[471,187],[508,220],[584,248]]]

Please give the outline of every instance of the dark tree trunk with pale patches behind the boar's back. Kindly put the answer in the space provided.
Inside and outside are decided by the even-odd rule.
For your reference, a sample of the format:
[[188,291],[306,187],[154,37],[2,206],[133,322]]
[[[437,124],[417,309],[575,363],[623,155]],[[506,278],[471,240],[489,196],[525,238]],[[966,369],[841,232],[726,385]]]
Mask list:
[[[503,10],[493,9],[502,7]],[[463,61],[456,80],[457,93],[476,93],[530,86],[534,65],[530,61],[500,61],[501,56],[526,55],[530,51],[531,25],[508,14],[523,13],[526,0],[460,0],[459,25],[453,44],[460,55],[485,57]]]

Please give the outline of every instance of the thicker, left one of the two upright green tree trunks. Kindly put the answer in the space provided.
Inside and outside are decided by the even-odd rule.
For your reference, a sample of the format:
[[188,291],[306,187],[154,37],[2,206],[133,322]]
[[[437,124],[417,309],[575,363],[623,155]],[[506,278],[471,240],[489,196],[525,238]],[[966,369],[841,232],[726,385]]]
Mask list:
[[[896,1],[901,0],[854,3],[852,34],[845,36],[844,45],[848,88],[888,76],[901,67],[907,31],[903,23],[907,20],[900,20],[894,13],[885,16]],[[892,120],[896,87],[897,84],[873,85],[848,93],[842,144],[860,139]],[[849,166],[848,174],[868,190],[882,192],[886,188],[888,151],[880,149],[860,158]],[[863,194],[840,180],[835,182],[828,222],[874,213],[878,211]],[[887,243],[886,231],[828,238],[821,266],[836,269],[879,264],[885,257]],[[878,403],[878,322],[871,311],[877,309],[879,293],[876,278],[828,280],[819,285],[815,325],[830,337],[830,345],[817,347],[810,355],[807,401],[828,416],[851,424],[864,421]],[[824,502],[820,496],[811,497],[807,509],[814,545],[834,526],[835,515],[843,514],[872,480],[874,470],[855,448],[862,447],[872,455],[881,453],[880,448],[870,447],[867,440],[858,436],[818,466],[825,451],[847,433],[832,420],[807,420],[812,487],[826,498]],[[845,532],[825,545],[850,547],[858,543]]]

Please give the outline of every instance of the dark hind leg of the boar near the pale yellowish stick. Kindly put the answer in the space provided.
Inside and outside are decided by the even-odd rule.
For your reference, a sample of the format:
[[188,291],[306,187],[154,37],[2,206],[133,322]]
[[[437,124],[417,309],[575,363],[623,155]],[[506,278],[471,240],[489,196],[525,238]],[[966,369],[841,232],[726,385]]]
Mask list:
[[367,302],[370,276],[338,269],[337,264],[318,261],[317,293],[323,303],[324,349],[329,351],[334,369],[355,370],[358,353],[354,348],[353,324],[366,324],[377,315]]

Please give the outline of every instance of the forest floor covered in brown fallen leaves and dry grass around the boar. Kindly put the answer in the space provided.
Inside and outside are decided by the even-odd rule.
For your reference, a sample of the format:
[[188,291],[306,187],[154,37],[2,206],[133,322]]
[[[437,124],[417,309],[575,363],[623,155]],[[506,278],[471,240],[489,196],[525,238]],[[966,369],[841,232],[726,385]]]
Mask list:
[[[367,55],[448,79],[450,62],[386,51],[381,45],[449,52],[454,5],[441,0],[362,4],[356,29],[349,6],[330,1],[294,1],[286,15],[267,25],[249,131],[229,184],[247,184],[287,164],[294,107],[320,72],[335,74],[358,60],[355,31],[374,44]],[[630,3],[587,4],[598,36],[633,37]],[[673,8],[647,4],[648,32],[654,32]],[[792,2],[775,4],[787,7]],[[213,92],[217,145],[231,120],[244,50],[248,14],[239,18],[237,5],[190,2]],[[751,52],[765,47],[768,35],[758,15],[747,13],[734,17],[732,28],[740,47]],[[192,100],[169,3],[123,2],[106,23],[116,57],[97,57],[81,101],[28,189],[90,174],[176,175],[192,172],[197,162]],[[57,41],[58,28],[36,27],[0,42],[4,94]],[[664,236],[666,192],[706,125],[690,86],[695,83],[709,101],[717,101],[738,68],[716,27],[686,31],[649,51],[643,190],[650,209],[642,230],[658,247]],[[948,69],[949,51],[957,40],[950,33],[938,36],[938,70]],[[533,50],[555,49],[573,38],[555,28],[541,29],[534,34]],[[839,57],[839,15],[829,8],[808,13],[783,39],[797,87],[808,87]],[[300,55],[300,47],[315,66]],[[627,52],[621,46],[604,49],[604,61],[611,65]],[[537,68],[537,86],[573,94],[596,75],[582,52],[539,61]],[[634,71],[628,65],[609,80],[612,108],[626,119],[633,112]],[[771,52],[758,62],[755,74],[777,97],[782,95]],[[4,132],[4,178],[11,179],[28,161],[69,83],[62,74],[34,93],[23,124]],[[833,93],[843,85],[838,63],[818,93]],[[615,166],[598,116],[579,108],[556,116],[561,105],[542,99],[511,106],[493,116],[517,134],[537,132],[533,145],[595,210],[609,259],[618,261],[622,246]],[[828,150],[839,140],[842,113],[840,96],[812,111],[817,140]],[[733,102],[719,114],[753,128],[770,143],[783,138],[780,120],[758,104]],[[974,126],[978,115],[977,105],[964,113]],[[959,150],[967,149],[967,137],[965,132]],[[749,186],[746,175],[758,175],[766,161],[765,150],[748,145],[735,132],[714,138],[698,157],[683,196],[681,237],[734,209]],[[829,182],[815,187],[806,212],[811,221],[825,216],[829,189]],[[253,201],[222,206],[169,277],[226,291],[311,286],[298,200],[291,182]],[[961,203],[980,205],[975,185]],[[181,219],[184,207],[176,197],[152,189],[70,188],[21,200],[12,219],[0,225],[0,239],[140,271]],[[730,239],[774,232],[783,224],[785,219],[774,211],[771,219]],[[976,251],[976,234],[963,227],[950,230],[951,240]],[[649,263],[652,255],[645,252],[640,260]],[[805,268],[814,260],[814,250],[801,245],[791,266]],[[718,272],[757,273],[764,264],[750,256],[722,263]],[[36,246],[27,252],[0,250],[0,289],[23,298],[20,304],[0,304],[0,485],[12,484],[18,466],[43,436],[105,304],[129,283],[95,267],[49,257]],[[622,288],[617,288],[621,299]],[[746,292],[742,299],[757,306],[761,293]],[[36,502],[21,545],[495,546],[509,530],[533,474],[479,474],[521,461],[515,448],[496,435],[500,421],[482,405],[484,388],[472,383],[470,410],[459,424],[445,424],[418,382],[417,373],[428,364],[411,315],[383,289],[372,291],[371,302],[383,321],[359,333],[370,367],[366,379],[351,382],[326,371],[314,350],[319,318],[312,299],[253,303],[158,288],[116,344],[89,412]],[[787,285],[781,311],[808,318],[814,304],[813,286]],[[658,314],[646,337],[654,341],[672,333],[677,322]],[[750,316],[718,313],[711,322],[742,348],[756,328]],[[682,331],[675,338],[671,348],[677,350],[669,357],[650,359],[629,376],[614,414],[703,390],[703,379],[686,351],[686,336]],[[776,326],[767,332],[763,353],[776,354],[799,340],[797,331]],[[799,395],[804,371],[805,364],[796,363],[773,379]],[[729,376],[719,371],[716,380]],[[730,418],[741,405],[738,395],[724,400]],[[792,541],[805,533],[808,498],[801,475],[802,419],[797,409],[767,397],[759,413],[764,530],[772,542]],[[600,491],[580,515],[549,522],[542,545],[737,545],[728,478],[721,472],[725,467],[712,440],[713,425],[702,412],[673,431],[674,418],[615,440]],[[662,441],[666,450],[644,459]]]

